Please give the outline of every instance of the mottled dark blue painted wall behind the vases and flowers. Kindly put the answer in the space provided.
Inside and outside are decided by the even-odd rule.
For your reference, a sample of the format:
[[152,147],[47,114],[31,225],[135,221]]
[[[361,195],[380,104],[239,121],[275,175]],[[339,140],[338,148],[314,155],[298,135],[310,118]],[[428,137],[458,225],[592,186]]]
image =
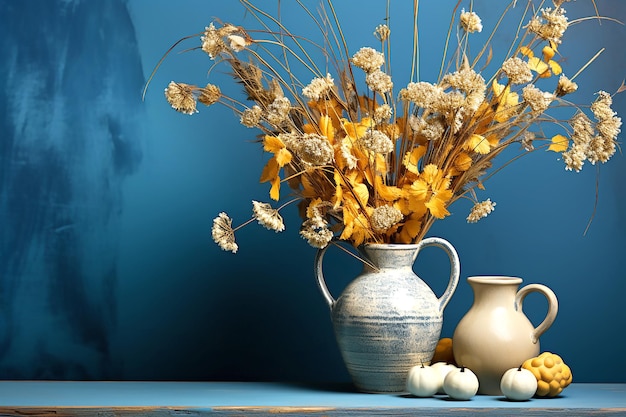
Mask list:
[[[626,3],[596,2],[601,14],[626,21]],[[422,2],[424,80],[436,77],[453,3]],[[487,25],[493,4],[475,2]],[[336,6],[340,16],[358,13],[345,20],[352,48],[375,46],[383,2]],[[571,17],[593,13],[590,1],[566,6]],[[394,7],[394,39],[407,39],[393,50],[404,65],[394,69],[401,85],[410,22],[405,6]],[[141,102],[163,52],[213,17],[251,20],[234,1],[0,0],[0,379],[348,379],[295,210],[286,211],[283,234],[241,230],[237,255],[211,240],[219,211],[243,221],[250,199],[267,200],[268,191],[257,182],[264,155],[230,111],[189,117],[163,99],[171,79],[205,82],[211,62],[200,52],[170,55]],[[620,86],[625,40],[614,23],[570,29],[560,50],[566,73],[606,47],[577,78],[577,102]],[[222,72],[212,81],[228,84]],[[623,94],[614,107],[626,115]],[[597,212],[583,236],[598,179]],[[561,354],[579,382],[626,382],[625,179],[620,154],[571,173],[540,151],[487,183],[498,204],[487,219],[466,224],[468,207],[453,206],[430,233],[461,257],[443,336],[471,305],[465,277],[521,276],[560,301],[543,350]],[[326,273],[338,295],[359,265],[332,252]],[[445,263],[428,249],[416,271],[441,292]],[[538,323],[545,301],[531,295],[525,309]]]

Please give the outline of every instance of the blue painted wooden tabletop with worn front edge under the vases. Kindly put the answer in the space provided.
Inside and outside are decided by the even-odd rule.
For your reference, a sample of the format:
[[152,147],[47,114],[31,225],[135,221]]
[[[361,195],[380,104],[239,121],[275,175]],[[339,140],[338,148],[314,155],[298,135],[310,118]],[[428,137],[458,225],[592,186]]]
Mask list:
[[444,415],[626,416],[626,384],[572,384],[563,395],[510,402],[479,395],[363,394],[350,385],[244,382],[0,381],[0,416]]

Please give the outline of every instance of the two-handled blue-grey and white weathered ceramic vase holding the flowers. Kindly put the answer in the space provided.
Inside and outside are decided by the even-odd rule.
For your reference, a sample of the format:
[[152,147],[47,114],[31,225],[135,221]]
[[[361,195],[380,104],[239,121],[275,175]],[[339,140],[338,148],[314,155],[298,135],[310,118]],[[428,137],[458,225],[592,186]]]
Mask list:
[[[413,272],[426,246],[439,247],[450,258],[450,278],[441,297]],[[429,364],[439,341],[443,310],[459,281],[456,250],[437,237],[410,245],[364,245],[363,256],[376,268],[364,264],[361,274],[334,299],[322,273],[327,248],[317,253],[315,274],[355,386],[364,392],[406,392],[410,368]]]

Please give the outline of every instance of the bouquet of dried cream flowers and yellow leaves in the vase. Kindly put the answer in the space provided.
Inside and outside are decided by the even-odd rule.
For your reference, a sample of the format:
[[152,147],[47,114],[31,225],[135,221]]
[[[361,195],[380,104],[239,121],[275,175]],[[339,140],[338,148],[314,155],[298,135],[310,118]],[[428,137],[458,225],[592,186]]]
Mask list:
[[[279,211],[298,202],[300,235],[316,248],[333,239],[355,246],[414,243],[436,219],[448,216],[448,207],[460,198],[474,202],[468,222],[493,211],[495,203],[480,201],[477,192],[484,190],[486,177],[510,162],[497,167],[494,159],[511,145],[521,154],[540,148],[557,152],[571,171],[580,171],[585,161],[604,163],[616,152],[621,119],[611,109],[612,95],[600,91],[584,107],[565,99],[577,90],[576,76],[596,57],[575,75],[564,74],[558,62],[563,35],[587,19],[570,21],[564,0],[512,1],[505,13],[520,14],[517,41],[498,66],[492,62],[489,41],[498,30],[506,30],[502,20],[470,56],[468,45],[483,31],[483,22],[472,10],[473,2],[468,2],[469,11],[459,11],[459,1],[446,45],[453,38],[457,42],[443,51],[439,79],[416,79],[416,27],[412,79],[398,92],[390,75],[389,26],[374,30],[378,49],[353,50],[331,0],[320,4],[318,15],[298,2],[320,28],[323,43],[318,45],[290,32],[251,1],[240,2],[263,30],[214,22],[200,39],[214,65],[230,67],[247,101],[228,97],[213,84],[174,81],[165,96],[174,109],[187,114],[197,112],[197,102],[224,104],[244,126],[260,131],[268,153],[260,180],[269,183],[275,201],[287,194],[288,185],[290,199],[276,209],[253,201],[253,217],[244,225],[256,220],[282,231]],[[412,12],[417,22],[417,6]],[[325,56],[318,63],[313,55],[320,54]],[[296,66],[304,68],[307,79],[295,75]],[[494,66],[489,74],[480,70]],[[571,118],[551,116],[556,107],[570,107]],[[545,137],[547,124],[560,133]],[[230,217],[220,213],[213,222],[213,239],[236,252],[236,230]]]

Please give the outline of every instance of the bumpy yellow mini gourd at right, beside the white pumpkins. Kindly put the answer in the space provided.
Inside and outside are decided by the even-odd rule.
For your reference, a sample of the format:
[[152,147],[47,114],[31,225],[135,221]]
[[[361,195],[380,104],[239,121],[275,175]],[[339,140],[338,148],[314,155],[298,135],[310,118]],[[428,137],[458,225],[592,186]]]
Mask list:
[[572,382],[572,371],[559,355],[543,352],[539,356],[524,362],[522,368],[528,369],[537,378],[538,397],[556,397]]

